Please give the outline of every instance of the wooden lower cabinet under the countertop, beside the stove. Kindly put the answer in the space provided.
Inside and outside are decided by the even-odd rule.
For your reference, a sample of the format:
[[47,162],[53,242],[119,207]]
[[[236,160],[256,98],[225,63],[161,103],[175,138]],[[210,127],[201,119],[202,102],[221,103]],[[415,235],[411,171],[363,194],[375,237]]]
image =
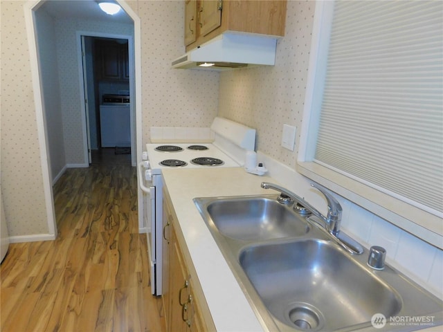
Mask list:
[[213,322],[206,324],[201,313],[201,306],[196,296],[198,281],[192,278],[183,250],[177,239],[174,229],[174,214],[170,201],[165,199],[163,203],[163,276],[168,288],[163,291],[163,308],[165,311],[165,326],[168,332],[179,331],[213,331]]

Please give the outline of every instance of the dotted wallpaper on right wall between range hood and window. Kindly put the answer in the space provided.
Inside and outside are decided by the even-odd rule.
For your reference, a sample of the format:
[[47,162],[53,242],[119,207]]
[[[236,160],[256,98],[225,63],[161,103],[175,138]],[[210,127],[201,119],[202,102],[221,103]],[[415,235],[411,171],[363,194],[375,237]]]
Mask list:
[[[221,73],[219,116],[257,129],[256,148],[296,168],[305,99],[314,1],[288,1],[275,66]],[[297,127],[296,149],[281,147],[283,124]]]

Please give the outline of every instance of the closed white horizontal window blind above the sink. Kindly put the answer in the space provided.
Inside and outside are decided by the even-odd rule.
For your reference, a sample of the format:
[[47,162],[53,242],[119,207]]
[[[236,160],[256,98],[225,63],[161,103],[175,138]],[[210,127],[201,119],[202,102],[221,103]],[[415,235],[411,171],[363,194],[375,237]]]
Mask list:
[[336,1],[314,162],[443,212],[443,3]]

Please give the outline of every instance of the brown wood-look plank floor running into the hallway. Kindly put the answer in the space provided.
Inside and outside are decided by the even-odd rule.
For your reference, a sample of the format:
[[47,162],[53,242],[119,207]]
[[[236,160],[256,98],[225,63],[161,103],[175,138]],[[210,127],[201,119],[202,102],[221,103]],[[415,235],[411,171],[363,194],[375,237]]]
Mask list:
[[0,266],[0,330],[164,331],[138,234],[136,168],[67,169],[54,201],[57,239],[12,243]]

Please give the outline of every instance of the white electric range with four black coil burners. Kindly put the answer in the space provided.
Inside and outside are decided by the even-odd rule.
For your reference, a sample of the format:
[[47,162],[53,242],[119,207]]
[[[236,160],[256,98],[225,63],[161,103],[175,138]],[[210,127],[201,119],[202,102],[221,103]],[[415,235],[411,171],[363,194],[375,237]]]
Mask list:
[[151,293],[163,294],[163,178],[164,168],[242,167],[247,151],[255,148],[255,129],[215,118],[213,143],[150,143],[138,163],[138,183],[143,191],[143,223],[147,229],[151,268]]

